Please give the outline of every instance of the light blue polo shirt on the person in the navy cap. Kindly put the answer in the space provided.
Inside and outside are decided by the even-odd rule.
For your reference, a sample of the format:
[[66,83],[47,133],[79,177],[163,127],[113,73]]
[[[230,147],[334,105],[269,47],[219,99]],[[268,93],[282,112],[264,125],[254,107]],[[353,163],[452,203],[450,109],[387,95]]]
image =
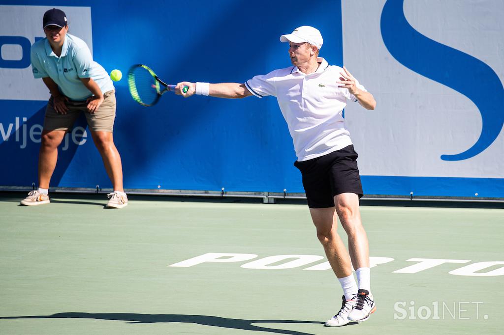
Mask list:
[[59,57],[47,38],[36,42],[31,48],[31,65],[35,78],[50,77],[71,100],[86,100],[93,95],[79,78],[92,78],[102,93],[114,89],[107,71],[93,60],[86,42],[70,34],[65,37]]

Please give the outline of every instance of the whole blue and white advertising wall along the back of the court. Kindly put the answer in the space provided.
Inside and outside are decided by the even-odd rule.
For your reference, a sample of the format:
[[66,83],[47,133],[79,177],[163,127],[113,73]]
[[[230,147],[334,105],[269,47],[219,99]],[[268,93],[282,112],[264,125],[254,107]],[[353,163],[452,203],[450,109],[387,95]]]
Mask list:
[[[475,2],[465,3],[467,9],[457,7],[462,14],[446,10],[444,15],[460,17],[464,11],[471,11]],[[67,13],[69,32],[86,41],[98,63],[108,72],[119,69],[123,73],[122,80],[114,82],[117,98],[114,142],[121,154],[126,189],[220,191],[225,187],[226,191],[286,189],[288,193],[302,193],[301,177],[293,166],[296,157],[292,139],[275,98],[183,99],[166,94],[156,106],[146,108],[131,99],[124,74],[131,65],[144,63],[169,83],[244,82],[254,75],[289,66],[288,46],[279,41],[279,36],[298,26],[311,25],[324,37],[321,56],[330,64],[345,64],[378,103],[371,112],[358,104],[349,105],[345,111],[347,126],[360,154],[365,194],[414,192],[419,196],[504,197],[503,118],[493,102],[503,97],[504,68],[496,68],[501,64],[495,65],[491,57],[480,60],[485,64],[481,67],[486,69],[485,73],[495,74],[490,88],[495,99],[475,103],[476,107],[463,106],[476,100],[464,91],[471,87],[471,82],[455,87],[451,84],[455,77],[433,77],[428,63],[419,57],[421,51],[401,50],[406,37],[401,37],[399,31],[396,34],[394,27],[404,23],[380,24],[384,16],[397,17],[394,11],[410,19],[408,14],[411,16],[413,12],[421,17],[427,9],[408,1],[386,4],[385,0],[372,4],[331,0],[309,6],[301,1],[139,4],[90,0],[47,5],[42,1],[27,0],[20,4],[19,0],[2,0],[0,186],[31,187],[37,182],[40,134],[49,93],[41,79],[33,78],[29,48],[44,37],[42,15],[53,7]],[[488,22],[487,12],[480,16],[473,13],[472,20]],[[411,29],[420,31],[412,37],[419,40],[421,33],[436,33],[414,25]],[[443,29],[438,27],[440,31]],[[504,33],[504,26],[497,21],[485,29]],[[446,37],[448,42],[443,40],[436,46],[442,50],[450,41],[457,42],[463,33],[462,29],[455,29],[453,36]],[[464,54],[482,47],[477,34],[470,39],[474,43],[469,43],[470,50],[464,50]],[[422,41],[429,43],[428,39]],[[415,43],[414,40],[410,43],[411,50]],[[490,42],[485,43],[491,53]],[[465,57],[462,51],[452,52],[459,62],[455,67],[464,66],[464,61],[479,64],[474,61],[478,55]],[[450,56],[450,52],[446,54]],[[442,64],[439,66],[443,68]],[[401,79],[394,80],[395,75]],[[456,71],[447,71],[445,75],[455,76]],[[433,85],[443,88],[436,89]],[[417,93],[423,96],[418,98]],[[468,114],[474,110],[474,115],[480,115],[479,109],[484,109],[481,115],[487,118],[483,123],[490,126],[482,128],[481,119],[473,120],[471,114],[467,118],[469,125],[462,124],[463,120],[451,123],[452,126],[448,120],[441,122],[443,133],[435,126],[425,127],[422,123],[425,118],[419,121],[413,116],[419,115],[429,99],[439,99],[436,115],[450,116],[453,106]],[[479,130],[475,129],[478,127]],[[418,136],[415,139],[411,134]],[[418,138],[426,142],[419,145]],[[471,147],[471,140],[478,144],[459,160],[443,159],[458,157],[464,151],[448,143],[450,138],[467,138],[467,143],[460,144],[466,149]],[[432,147],[439,148],[439,154]],[[82,117],[59,147],[51,187],[96,185],[111,187]]]

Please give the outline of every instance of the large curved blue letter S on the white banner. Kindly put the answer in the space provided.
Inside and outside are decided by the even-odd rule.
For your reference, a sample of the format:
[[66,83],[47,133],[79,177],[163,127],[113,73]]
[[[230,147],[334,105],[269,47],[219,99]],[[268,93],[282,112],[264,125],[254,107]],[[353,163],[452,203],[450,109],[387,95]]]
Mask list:
[[463,160],[485,150],[504,124],[504,89],[495,72],[479,59],[433,41],[410,26],[404,0],[388,0],[381,17],[385,46],[404,66],[469,98],[479,109],[481,134],[472,147],[443,160]]

